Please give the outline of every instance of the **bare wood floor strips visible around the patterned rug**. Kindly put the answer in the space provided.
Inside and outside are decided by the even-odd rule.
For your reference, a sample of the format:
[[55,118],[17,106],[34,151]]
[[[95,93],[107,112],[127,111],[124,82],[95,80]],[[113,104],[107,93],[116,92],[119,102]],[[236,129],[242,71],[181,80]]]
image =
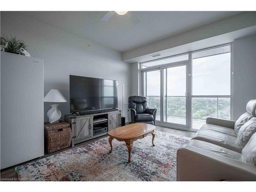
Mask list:
[[[170,133],[170,134],[176,134],[176,135],[182,135],[182,136],[186,136],[186,137],[194,137],[196,135],[196,133],[194,132],[189,132],[189,131],[182,131],[182,130],[176,130],[176,129],[171,129],[171,128],[167,128],[167,127],[162,127],[162,126],[156,126],[156,130],[157,131],[162,131],[162,132],[166,132],[166,133]],[[102,137],[105,137],[105,136],[102,136]],[[99,137],[99,138],[102,138],[102,137]],[[95,138],[95,139],[92,139],[90,141],[93,141],[93,140],[97,140],[99,138]],[[87,141],[86,141],[87,142]],[[79,143],[79,144],[76,144],[75,146],[79,146],[79,145],[82,145],[84,144],[84,142],[82,143]],[[39,158],[36,158],[36,159],[33,159],[31,161],[34,161],[34,160],[38,160],[40,158],[45,158],[45,157],[48,157],[48,156],[51,156],[51,155],[54,155],[54,154],[57,154],[59,152],[62,152],[62,151],[66,151],[68,150],[69,148],[65,148],[64,150],[60,150],[58,152],[54,152],[54,153],[51,153],[50,155],[45,155],[45,156],[42,156],[42,157],[39,157]],[[22,165],[22,164],[26,164],[28,162],[31,162],[31,161],[27,161],[25,163],[21,163],[19,165]],[[17,166],[17,165],[16,165]],[[3,170],[1,170],[1,175],[0,175],[0,178],[2,181],[5,181],[6,179],[8,180],[16,180],[18,179],[18,176],[17,176],[17,173],[15,171],[15,167],[16,166],[12,166],[12,167],[9,167],[9,168],[5,168]]]

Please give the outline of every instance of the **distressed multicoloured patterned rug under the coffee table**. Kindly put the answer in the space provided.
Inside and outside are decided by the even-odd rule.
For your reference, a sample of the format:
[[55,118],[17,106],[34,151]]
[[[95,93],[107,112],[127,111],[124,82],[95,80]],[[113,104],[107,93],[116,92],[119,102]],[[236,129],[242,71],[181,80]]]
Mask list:
[[20,180],[29,181],[175,181],[176,152],[188,137],[156,131],[134,142],[127,163],[124,142],[108,137],[17,167]]

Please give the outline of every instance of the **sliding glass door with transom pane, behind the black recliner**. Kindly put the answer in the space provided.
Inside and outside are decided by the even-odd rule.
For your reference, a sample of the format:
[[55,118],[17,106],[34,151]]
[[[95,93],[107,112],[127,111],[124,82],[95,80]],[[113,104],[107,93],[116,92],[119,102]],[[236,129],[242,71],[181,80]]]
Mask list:
[[188,54],[163,61],[149,62],[142,66],[142,95],[147,97],[150,108],[157,109],[157,122],[188,128]]

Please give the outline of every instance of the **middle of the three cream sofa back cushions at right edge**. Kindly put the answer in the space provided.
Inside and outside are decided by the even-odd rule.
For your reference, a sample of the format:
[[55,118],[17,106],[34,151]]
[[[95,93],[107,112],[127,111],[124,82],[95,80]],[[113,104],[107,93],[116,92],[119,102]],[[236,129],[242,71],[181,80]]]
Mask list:
[[254,133],[256,133],[256,117],[252,117],[243,126],[241,126],[237,138],[237,142],[240,147],[244,148]]

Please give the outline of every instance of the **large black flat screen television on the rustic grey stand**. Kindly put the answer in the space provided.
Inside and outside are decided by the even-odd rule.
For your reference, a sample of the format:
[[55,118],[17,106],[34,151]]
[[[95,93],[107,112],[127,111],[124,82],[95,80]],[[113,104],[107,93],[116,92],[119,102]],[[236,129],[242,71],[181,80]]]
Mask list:
[[70,75],[69,86],[71,113],[118,107],[116,80]]

